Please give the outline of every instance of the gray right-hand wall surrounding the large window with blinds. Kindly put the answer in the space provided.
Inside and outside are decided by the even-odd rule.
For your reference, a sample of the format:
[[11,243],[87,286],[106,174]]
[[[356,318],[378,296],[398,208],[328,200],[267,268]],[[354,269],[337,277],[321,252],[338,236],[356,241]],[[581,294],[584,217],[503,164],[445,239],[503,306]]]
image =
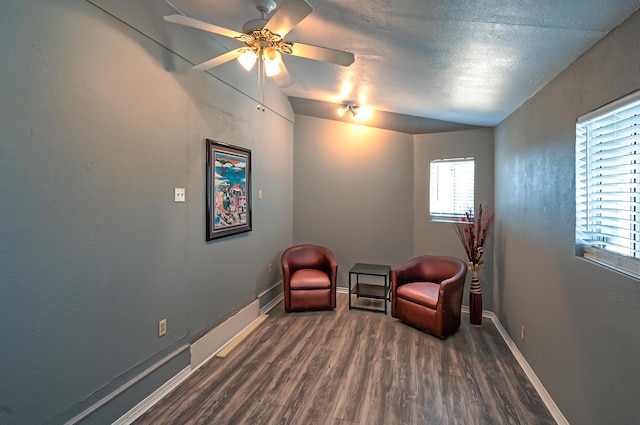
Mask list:
[[494,310],[573,424],[640,418],[640,283],[574,255],[575,120],[640,88],[639,52],[636,13],[496,130]]

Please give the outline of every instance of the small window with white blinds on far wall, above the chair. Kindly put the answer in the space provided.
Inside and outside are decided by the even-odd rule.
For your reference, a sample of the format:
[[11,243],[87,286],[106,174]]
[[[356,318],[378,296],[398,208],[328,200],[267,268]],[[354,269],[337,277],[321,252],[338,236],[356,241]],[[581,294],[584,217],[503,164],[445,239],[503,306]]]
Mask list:
[[473,213],[473,158],[431,161],[429,217],[433,221],[456,221]]

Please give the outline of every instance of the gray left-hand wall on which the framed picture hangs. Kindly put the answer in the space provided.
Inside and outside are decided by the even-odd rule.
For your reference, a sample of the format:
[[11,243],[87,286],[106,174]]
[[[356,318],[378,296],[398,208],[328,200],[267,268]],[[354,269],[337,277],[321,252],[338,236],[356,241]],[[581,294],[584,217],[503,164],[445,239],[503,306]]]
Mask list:
[[[88,2],[4,3],[0,423],[57,423],[278,282],[267,265],[293,241],[293,113],[282,96],[268,99],[277,114],[257,112],[241,85]],[[206,138],[252,149],[255,189],[254,230],[210,243]]]

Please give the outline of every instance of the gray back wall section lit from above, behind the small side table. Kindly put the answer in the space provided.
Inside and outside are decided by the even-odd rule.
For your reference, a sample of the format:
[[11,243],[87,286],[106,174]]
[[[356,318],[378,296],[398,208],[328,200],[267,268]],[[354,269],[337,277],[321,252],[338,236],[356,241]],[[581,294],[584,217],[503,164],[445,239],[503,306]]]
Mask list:
[[355,263],[410,258],[412,137],[296,115],[294,140],[295,242],[331,249],[344,287]]

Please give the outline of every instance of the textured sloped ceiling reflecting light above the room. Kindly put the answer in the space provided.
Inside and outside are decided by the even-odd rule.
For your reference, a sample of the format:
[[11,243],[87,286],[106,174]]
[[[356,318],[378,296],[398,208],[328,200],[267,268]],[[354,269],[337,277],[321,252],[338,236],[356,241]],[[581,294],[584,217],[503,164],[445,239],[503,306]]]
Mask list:
[[[640,0],[307,1],[313,13],[286,39],[352,52],[355,63],[287,56],[293,83],[282,91],[294,111],[337,119],[329,106],[354,101],[383,117],[372,125],[408,133],[497,125],[640,8]],[[260,17],[251,0],[156,3],[237,31]],[[210,37],[222,50],[239,47]],[[214,50],[178,53],[199,63]]]

